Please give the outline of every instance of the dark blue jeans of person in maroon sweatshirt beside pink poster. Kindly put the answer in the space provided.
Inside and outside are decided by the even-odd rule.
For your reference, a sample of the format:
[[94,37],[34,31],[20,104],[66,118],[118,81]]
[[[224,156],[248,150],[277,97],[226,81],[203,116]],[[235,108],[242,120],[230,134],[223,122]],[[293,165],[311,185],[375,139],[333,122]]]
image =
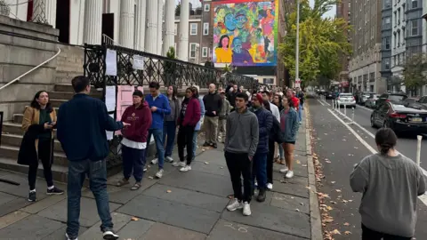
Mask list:
[[136,181],[142,180],[145,158],[145,149],[128,148],[122,145],[123,176],[126,180],[131,178],[132,172]]

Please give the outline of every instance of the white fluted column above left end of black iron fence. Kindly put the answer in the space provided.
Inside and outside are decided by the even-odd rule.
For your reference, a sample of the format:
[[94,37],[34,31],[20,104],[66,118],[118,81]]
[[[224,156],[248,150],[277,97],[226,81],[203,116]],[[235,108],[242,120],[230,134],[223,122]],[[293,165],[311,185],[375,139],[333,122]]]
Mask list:
[[84,24],[83,42],[85,44],[101,44],[102,0],[85,0]]

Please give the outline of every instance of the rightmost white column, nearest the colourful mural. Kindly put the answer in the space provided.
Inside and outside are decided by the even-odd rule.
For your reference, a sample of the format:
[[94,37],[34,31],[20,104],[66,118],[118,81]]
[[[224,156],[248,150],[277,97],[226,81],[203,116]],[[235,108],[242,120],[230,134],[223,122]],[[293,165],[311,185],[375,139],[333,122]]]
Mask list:
[[181,1],[178,59],[189,60],[189,0]]

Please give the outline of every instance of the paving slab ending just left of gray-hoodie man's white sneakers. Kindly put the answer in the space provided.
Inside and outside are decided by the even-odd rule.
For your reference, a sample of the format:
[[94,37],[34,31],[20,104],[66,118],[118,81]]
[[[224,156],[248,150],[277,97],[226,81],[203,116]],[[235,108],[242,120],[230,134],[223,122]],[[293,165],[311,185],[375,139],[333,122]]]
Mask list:
[[[171,192],[168,193],[168,190]],[[156,184],[144,191],[142,194],[171,202],[195,206],[214,212],[222,212],[225,206],[229,203],[229,199],[226,197],[208,195],[162,184]]]

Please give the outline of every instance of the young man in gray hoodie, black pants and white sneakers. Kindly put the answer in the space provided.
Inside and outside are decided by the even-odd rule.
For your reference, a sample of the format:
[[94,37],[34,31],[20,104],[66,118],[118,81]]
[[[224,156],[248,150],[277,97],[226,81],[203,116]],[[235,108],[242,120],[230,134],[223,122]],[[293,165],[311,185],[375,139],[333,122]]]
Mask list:
[[[259,127],[258,119],[246,107],[247,99],[246,93],[236,94],[236,111],[227,117],[224,155],[234,190],[234,199],[227,206],[227,210],[236,211],[243,208],[243,214],[249,216],[251,215],[249,204],[254,194],[252,160],[258,146]],[[241,176],[243,176],[243,194]]]

